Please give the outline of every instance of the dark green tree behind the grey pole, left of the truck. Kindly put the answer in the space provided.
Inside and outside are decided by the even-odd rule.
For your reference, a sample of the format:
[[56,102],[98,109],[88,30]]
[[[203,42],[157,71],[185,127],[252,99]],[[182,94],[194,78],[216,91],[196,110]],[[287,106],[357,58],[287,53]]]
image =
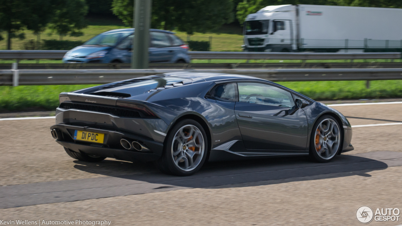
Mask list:
[[[133,24],[133,0],[113,0],[112,10],[127,26]],[[231,23],[232,0],[153,0],[151,27],[178,29],[191,35]]]

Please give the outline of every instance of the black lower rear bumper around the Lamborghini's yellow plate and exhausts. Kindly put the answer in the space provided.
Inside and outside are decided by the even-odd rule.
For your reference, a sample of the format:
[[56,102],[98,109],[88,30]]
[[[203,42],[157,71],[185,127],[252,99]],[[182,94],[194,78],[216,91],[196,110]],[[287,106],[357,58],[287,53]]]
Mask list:
[[[162,155],[163,144],[156,142],[150,138],[138,136],[121,131],[97,129],[91,127],[83,127],[76,125],[57,124],[50,129],[58,129],[62,133],[62,137],[56,140],[57,143],[70,149],[73,152],[85,153],[108,158],[116,158],[126,161],[154,161]],[[94,133],[105,134],[103,144],[74,140],[75,130],[88,131]],[[120,140],[125,139],[129,142],[137,141],[144,144],[148,150],[141,152],[136,150],[127,150],[120,144]]]

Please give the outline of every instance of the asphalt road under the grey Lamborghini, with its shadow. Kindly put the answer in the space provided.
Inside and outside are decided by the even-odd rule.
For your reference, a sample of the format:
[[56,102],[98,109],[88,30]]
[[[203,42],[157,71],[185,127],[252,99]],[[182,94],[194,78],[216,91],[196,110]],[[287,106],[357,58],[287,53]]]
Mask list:
[[[334,108],[352,125],[402,122],[402,104]],[[402,210],[402,125],[354,128],[355,150],[326,164],[306,158],[214,162],[191,177],[172,177],[141,162],[73,160],[51,138],[53,123],[0,121],[0,219],[359,225],[361,205]]]

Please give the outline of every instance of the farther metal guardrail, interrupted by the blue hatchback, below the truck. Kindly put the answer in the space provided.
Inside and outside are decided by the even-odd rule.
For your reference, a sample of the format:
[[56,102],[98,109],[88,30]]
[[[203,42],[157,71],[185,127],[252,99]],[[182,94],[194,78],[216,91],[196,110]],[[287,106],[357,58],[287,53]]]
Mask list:
[[[62,59],[66,50],[0,50],[0,59],[37,60]],[[267,52],[197,52],[189,51],[191,59],[221,60],[340,60],[400,59],[401,53],[267,53]]]

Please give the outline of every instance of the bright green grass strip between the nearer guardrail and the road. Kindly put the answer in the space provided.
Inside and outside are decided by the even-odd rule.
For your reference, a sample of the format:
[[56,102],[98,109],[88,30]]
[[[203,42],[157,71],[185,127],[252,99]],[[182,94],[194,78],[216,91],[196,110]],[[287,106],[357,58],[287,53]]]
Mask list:
[[[402,97],[401,80],[333,82],[278,82],[314,100],[379,99]],[[54,110],[60,92],[70,92],[94,85],[0,86],[0,112],[27,109]]]

